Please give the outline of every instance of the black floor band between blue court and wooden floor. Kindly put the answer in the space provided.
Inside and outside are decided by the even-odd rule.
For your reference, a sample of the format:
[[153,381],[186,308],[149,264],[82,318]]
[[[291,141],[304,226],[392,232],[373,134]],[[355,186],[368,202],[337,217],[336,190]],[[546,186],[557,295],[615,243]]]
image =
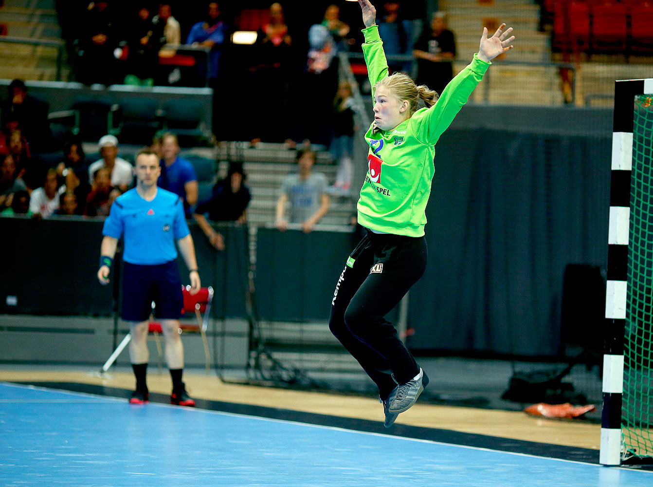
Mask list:
[[[125,397],[125,401],[131,394],[130,390],[99,386],[95,384],[82,384],[78,382],[34,382],[15,381],[18,384],[28,384],[51,389],[67,390],[72,392],[84,392],[87,394],[108,395],[111,397]],[[150,394],[150,401],[157,403],[169,403],[170,396],[166,394]],[[599,452],[590,448],[577,448],[574,446],[551,445],[549,443],[537,443],[508,439],[488,435],[477,435],[474,433],[461,433],[450,429],[423,428],[420,426],[408,426],[405,424],[394,424],[390,428],[384,428],[382,422],[361,420],[355,418],[341,418],[328,414],[315,414],[311,412],[291,411],[275,407],[263,407],[246,404],[227,403],[223,401],[208,401],[206,399],[195,399],[199,409],[209,411],[232,412],[246,416],[261,416],[278,420],[289,420],[321,426],[332,426],[356,431],[371,433],[383,433],[415,439],[451,443],[453,445],[475,446],[477,448],[488,448],[503,452],[513,452],[557,458],[560,460],[574,460],[577,462],[598,463]],[[380,407],[380,406],[379,406]]]

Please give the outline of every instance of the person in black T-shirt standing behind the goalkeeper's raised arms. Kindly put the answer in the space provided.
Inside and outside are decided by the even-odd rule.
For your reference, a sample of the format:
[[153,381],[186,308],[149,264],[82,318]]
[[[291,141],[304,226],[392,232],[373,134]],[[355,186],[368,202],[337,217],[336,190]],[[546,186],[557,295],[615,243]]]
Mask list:
[[417,58],[417,84],[426,84],[442,93],[453,78],[451,60],[456,57],[456,39],[447,29],[447,14],[435,12],[430,29],[425,29],[413,48]]

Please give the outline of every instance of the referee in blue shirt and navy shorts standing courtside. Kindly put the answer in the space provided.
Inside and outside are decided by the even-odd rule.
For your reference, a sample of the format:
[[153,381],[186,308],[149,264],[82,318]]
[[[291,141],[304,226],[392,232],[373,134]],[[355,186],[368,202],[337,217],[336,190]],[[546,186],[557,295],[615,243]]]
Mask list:
[[195,406],[182,382],[183,346],[179,318],[183,308],[182,282],[177,268],[177,241],[183,260],[191,269],[191,294],[200,288],[193,238],[186,224],[183,203],[174,193],[157,188],[161,174],[159,158],[150,150],[136,154],[136,188],[120,195],[104,221],[100,269],[97,278],[108,284],[110,267],[118,239],[124,235],[122,318],[129,322],[132,339],[129,358],[136,376],[133,404],[148,402],[146,371],[150,353],[147,346],[151,303],[161,320],[165,337],[165,358],[172,376],[170,402]]

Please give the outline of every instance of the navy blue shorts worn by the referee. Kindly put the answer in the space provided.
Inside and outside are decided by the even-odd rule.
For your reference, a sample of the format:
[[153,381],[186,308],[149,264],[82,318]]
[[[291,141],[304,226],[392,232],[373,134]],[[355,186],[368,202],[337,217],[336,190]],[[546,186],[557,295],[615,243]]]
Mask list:
[[157,318],[178,320],[182,316],[182,280],[177,261],[158,265],[125,262],[121,313],[123,320],[148,320],[152,312],[152,301]]

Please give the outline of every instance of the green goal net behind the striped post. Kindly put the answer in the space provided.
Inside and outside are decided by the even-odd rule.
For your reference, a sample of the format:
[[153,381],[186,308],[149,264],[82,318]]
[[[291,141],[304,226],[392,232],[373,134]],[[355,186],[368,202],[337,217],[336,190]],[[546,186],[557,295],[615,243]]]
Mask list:
[[653,105],[635,97],[622,433],[626,457],[653,458]]

